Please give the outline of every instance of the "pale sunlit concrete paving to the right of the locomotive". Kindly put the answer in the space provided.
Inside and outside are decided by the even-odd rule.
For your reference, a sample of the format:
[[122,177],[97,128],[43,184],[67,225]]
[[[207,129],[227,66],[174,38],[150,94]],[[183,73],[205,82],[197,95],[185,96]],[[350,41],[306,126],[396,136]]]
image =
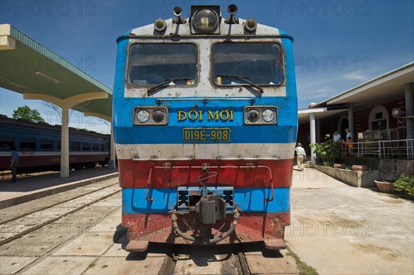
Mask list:
[[414,274],[414,203],[293,172],[290,249],[319,274]]

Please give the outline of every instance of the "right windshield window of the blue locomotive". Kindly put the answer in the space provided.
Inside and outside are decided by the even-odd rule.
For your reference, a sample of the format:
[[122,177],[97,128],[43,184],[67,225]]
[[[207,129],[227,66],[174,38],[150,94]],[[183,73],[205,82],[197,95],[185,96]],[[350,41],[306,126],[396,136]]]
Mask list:
[[[283,82],[282,54],[277,43],[219,43],[213,48],[214,81],[217,85],[257,85]],[[230,77],[230,75],[238,78]]]

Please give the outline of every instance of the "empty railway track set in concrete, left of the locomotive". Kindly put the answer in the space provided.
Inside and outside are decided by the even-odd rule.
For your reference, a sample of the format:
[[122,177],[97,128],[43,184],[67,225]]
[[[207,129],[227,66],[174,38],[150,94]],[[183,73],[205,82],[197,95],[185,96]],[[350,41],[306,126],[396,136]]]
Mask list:
[[[0,222],[0,245],[9,243],[119,192],[121,192],[121,189],[118,183],[114,183],[100,187],[97,190],[70,196],[70,198],[66,198],[58,203],[46,203],[46,205],[36,207],[34,210],[7,218]],[[79,203],[74,206],[74,201],[79,201]],[[33,218],[37,219],[37,222],[33,221]]]

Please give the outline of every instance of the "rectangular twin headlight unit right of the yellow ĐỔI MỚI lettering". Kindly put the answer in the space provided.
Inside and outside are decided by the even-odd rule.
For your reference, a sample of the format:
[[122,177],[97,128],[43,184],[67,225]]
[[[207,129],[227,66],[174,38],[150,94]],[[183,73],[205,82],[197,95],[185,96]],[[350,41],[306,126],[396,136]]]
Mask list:
[[246,125],[263,125],[277,124],[277,107],[276,106],[246,106],[244,108],[244,124]]

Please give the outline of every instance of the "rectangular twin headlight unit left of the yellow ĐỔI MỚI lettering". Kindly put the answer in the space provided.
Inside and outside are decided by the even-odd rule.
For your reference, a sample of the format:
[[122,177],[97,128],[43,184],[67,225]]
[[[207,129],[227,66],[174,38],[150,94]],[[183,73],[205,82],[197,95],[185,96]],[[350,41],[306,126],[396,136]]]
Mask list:
[[167,125],[168,108],[164,106],[140,106],[134,108],[135,125]]

